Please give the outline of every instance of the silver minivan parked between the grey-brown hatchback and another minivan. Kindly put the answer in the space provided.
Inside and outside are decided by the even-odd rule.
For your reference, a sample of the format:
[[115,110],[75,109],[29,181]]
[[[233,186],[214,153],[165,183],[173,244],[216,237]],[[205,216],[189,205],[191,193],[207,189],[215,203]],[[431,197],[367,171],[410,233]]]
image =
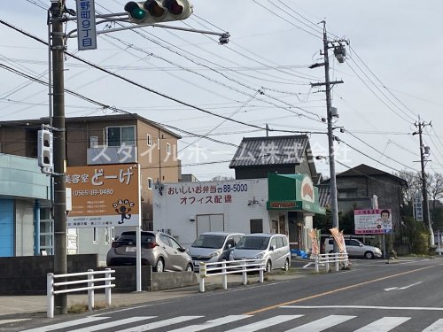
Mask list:
[[200,262],[220,262],[229,260],[230,251],[244,236],[242,233],[206,232],[198,235],[190,246],[189,254],[194,264],[194,271],[200,269]]

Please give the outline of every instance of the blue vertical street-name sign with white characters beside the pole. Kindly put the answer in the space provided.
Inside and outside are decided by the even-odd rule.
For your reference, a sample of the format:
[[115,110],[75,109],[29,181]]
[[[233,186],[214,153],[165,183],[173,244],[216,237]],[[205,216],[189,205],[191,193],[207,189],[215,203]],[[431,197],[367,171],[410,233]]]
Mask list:
[[77,39],[79,50],[97,49],[94,0],[77,0]]

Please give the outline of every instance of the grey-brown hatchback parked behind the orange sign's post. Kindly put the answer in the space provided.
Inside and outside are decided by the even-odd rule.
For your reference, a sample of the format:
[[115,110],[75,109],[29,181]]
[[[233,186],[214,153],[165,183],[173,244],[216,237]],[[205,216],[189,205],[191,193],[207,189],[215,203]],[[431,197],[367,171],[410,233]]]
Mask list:
[[[162,232],[142,231],[142,265],[153,271],[192,271],[192,259],[174,237]],[[123,232],[112,243],[107,266],[136,265],[136,231]]]

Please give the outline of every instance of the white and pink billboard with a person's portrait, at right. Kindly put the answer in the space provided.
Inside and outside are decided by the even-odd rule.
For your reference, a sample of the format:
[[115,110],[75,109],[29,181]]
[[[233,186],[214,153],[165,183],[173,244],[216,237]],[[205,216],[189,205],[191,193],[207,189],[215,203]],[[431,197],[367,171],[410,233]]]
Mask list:
[[354,210],[355,235],[392,233],[391,209]]

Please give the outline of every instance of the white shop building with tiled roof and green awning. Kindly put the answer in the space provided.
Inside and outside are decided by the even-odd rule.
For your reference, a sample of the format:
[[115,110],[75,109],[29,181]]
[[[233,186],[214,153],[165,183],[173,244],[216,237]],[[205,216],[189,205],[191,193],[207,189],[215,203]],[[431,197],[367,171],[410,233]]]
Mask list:
[[288,235],[291,248],[310,251],[308,232],[319,205],[307,135],[247,137],[230,168],[231,181],[165,183],[154,191],[154,228],[189,245],[202,232]]

